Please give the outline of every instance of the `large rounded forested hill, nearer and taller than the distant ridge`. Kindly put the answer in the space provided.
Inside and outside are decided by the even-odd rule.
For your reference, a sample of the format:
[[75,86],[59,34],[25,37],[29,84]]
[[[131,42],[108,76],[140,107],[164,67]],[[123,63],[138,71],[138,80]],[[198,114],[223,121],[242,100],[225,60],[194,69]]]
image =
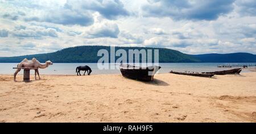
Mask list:
[[[43,53],[38,55],[26,55],[15,57],[0,57],[0,62],[20,62],[24,58],[32,59],[35,57],[40,62],[51,60],[52,62],[98,62],[101,56],[97,56],[100,49],[106,49],[109,52],[110,47],[107,46],[79,46],[72,48],[65,48],[53,53]],[[145,48],[145,47],[115,47],[115,51],[118,49],[124,49],[128,53],[129,49],[152,49],[152,55],[154,57],[154,49],[159,49],[159,62],[200,62],[199,58],[166,48]],[[115,57],[117,60],[119,57]]]

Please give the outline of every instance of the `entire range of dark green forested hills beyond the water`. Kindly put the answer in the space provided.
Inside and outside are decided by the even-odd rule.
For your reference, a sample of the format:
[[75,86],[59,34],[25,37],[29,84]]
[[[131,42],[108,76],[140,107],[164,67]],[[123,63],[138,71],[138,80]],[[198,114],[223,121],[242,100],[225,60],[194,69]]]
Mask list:
[[[38,55],[26,55],[15,57],[0,57],[0,62],[20,62],[24,58],[32,59],[35,57],[40,62],[51,60],[52,62],[71,63],[71,62],[98,62],[101,57],[97,56],[100,49],[106,49],[109,52],[108,46],[79,46],[72,48],[65,48],[53,53],[42,53]],[[145,48],[145,47],[115,47],[115,51],[124,49],[129,53],[129,49],[148,49],[152,50],[154,56],[154,49],[159,49],[159,62],[256,62],[256,55],[251,53],[228,53],[217,54],[210,53],[204,55],[187,55],[179,51],[167,48]],[[117,60],[119,57],[115,57]],[[154,61],[154,59],[153,59]]]

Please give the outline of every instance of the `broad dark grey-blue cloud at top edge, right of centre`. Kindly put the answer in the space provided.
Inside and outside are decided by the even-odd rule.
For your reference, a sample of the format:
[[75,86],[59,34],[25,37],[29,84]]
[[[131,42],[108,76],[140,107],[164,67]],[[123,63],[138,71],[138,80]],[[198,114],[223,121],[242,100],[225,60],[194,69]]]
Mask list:
[[234,0],[187,1],[150,0],[144,5],[145,16],[169,16],[174,19],[214,20],[233,10]]

